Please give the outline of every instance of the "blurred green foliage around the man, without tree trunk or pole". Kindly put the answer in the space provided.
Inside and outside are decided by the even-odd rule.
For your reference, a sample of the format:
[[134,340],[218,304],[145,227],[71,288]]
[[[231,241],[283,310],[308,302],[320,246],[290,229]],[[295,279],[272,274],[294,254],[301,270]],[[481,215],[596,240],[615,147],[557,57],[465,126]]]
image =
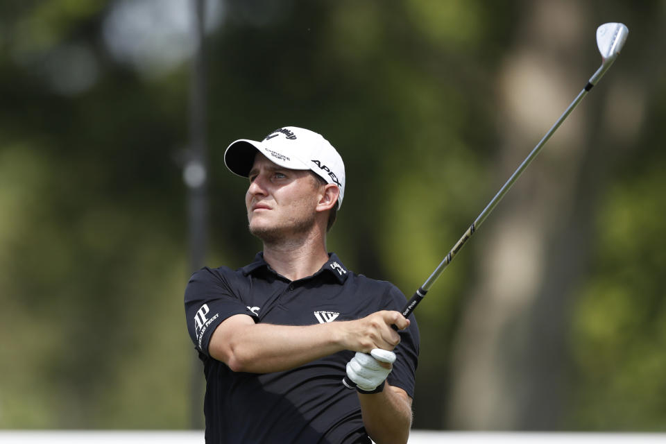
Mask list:
[[[2,428],[191,425],[198,370],[182,309],[191,270],[181,173],[191,71],[187,60],[146,71],[114,57],[105,20],[124,3],[0,5]],[[502,183],[496,75],[527,3],[220,3],[207,33],[207,264],[243,266],[260,248],[245,234],[246,183],[223,168],[224,148],[297,125],[345,159],[348,194],[329,248],[410,296]],[[655,56],[666,4],[585,10],[590,30],[610,20],[631,30],[607,76],[649,89],[640,137],[590,202],[590,259],[565,295],[566,413],[550,428],[665,430],[666,83]],[[592,45],[590,32],[581,83],[598,66]],[[63,91],[79,69],[61,66],[73,47],[92,56],[96,76]],[[452,340],[482,255],[468,246],[418,311],[418,428],[449,427]]]

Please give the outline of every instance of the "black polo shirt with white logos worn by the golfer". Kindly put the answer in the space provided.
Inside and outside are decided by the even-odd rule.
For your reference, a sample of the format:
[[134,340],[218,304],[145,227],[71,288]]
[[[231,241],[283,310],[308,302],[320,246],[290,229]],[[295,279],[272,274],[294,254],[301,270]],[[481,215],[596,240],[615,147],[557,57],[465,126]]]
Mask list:
[[[282,372],[240,373],[210,357],[208,343],[234,314],[257,323],[313,325],[400,311],[404,303],[393,284],[349,271],[334,254],[317,273],[293,282],[275,273],[262,253],[236,271],[221,266],[194,273],[185,290],[185,312],[206,377],[206,443],[369,443],[357,393],[342,384],[354,352]],[[387,380],[413,398],[419,343],[413,315],[400,336]]]

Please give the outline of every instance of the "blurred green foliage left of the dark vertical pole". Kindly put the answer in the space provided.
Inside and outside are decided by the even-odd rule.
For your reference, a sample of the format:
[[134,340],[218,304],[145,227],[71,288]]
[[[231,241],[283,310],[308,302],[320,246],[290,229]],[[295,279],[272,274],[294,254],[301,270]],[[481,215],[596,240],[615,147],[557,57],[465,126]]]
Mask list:
[[114,65],[105,2],[4,9],[0,425],[183,427],[182,75]]

